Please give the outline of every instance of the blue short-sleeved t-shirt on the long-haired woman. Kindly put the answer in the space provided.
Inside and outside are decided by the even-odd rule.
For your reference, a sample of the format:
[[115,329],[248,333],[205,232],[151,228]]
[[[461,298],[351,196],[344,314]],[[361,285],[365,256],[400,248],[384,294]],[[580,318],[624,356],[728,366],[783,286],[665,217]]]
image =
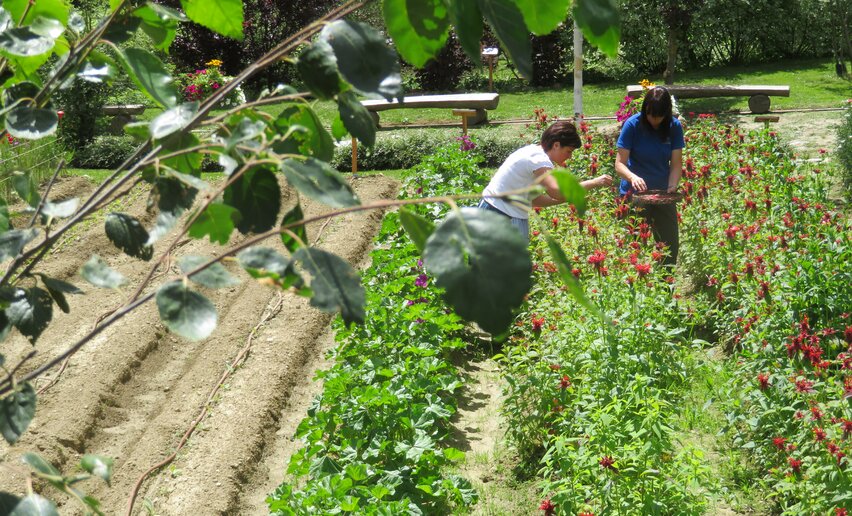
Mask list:
[[[684,147],[683,126],[677,118],[672,118],[669,138],[663,141],[656,131],[640,123],[641,116],[637,113],[624,122],[618,135],[618,148],[630,151],[627,167],[645,180],[649,190],[665,190],[669,187],[672,151]],[[630,190],[630,183],[622,179],[619,193],[625,195]]]

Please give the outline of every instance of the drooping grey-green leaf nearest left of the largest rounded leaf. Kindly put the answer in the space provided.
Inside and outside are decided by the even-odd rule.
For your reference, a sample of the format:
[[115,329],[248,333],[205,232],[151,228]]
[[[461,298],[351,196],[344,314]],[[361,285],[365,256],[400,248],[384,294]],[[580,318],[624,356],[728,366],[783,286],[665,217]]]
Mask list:
[[299,249],[293,260],[311,275],[311,306],[324,312],[340,311],[347,326],[364,322],[364,287],[351,265],[337,255],[314,247]]

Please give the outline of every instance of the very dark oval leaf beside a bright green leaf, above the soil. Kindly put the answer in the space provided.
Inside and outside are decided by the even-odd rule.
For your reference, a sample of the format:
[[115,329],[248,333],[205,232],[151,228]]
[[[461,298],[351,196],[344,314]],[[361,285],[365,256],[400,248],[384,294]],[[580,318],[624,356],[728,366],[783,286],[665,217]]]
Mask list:
[[240,212],[240,233],[263,233],[278,222],[281,187],[270,169],[255,166],[225,189],[223,201]]

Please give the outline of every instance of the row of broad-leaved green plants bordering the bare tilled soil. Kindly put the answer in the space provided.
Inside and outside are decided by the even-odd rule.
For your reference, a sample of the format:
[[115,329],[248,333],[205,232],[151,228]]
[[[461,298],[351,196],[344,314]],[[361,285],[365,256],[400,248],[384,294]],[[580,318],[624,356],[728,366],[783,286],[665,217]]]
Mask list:
[[[403,198],[445,195],[476,181],[476,160],[458,144],[426,158]],[[415,208],[438,217],[443,205]],[[441,300],[399,213],[385,216],[363,274],[366,322],[336,323],[335,364],[297,430],[305,441],[285,482],[267,499],[273,514],[438,514],[469,506],[470,483],[448,472],[464,458],[448,445],[462,391],[453,354],[461,319]]]

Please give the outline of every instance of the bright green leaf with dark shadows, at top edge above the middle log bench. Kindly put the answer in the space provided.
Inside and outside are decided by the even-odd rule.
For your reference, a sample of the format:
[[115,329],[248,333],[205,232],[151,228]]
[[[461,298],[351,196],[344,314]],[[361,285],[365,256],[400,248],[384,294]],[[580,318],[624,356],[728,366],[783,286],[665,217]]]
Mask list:
[[384,0],[382,12],[402,58],[417,68],[447,43],[450,23],[442,0]]

